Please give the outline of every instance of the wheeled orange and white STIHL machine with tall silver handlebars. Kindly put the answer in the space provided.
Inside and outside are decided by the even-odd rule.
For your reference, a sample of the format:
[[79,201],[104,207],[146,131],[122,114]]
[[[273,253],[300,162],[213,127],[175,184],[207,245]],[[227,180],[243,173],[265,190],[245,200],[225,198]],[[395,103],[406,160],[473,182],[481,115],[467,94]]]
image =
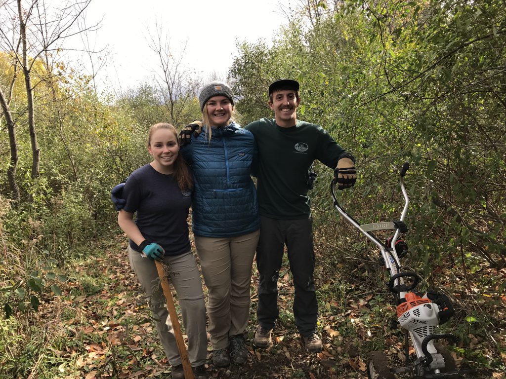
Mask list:
[[[414,289],[419,281],[418,275],[411,271],[402,271],[399,261],[407,253],[407,245],[399,239],[399,235],[401,232],[407,232],[404,219],[408,211],[409,198],[404,187],[404,175],[408,168],[409,164],[404,163],[400,172],[400,187],[405,203],[401,217],[396,221],[360,225],[339,205],[335,197],[335,186],[337,184],[335,178],[330,185],[334,207],[381,251],[381,259],[390,273],[388,288],[394,294],[397,306],[397,320],[393,320],[392,324],[397,327],[397,323],[399,323],[406,331],[404,346],[406,364],[410,362],[409,340],[411,340],[416,354],[416,359],[412,361],[411,365],[390,368],[385,353],[381,351],[371,352],[367,364],[367,373],[370,379],[394,379],[395,373],[407,373],[415,379],[460,378],[463,370],[457,370],[455,361],[448,350],[443,345],[435,342],[437,340],[456,342],[457,340],[451,334],[436,333],[438,325],[448,321],[453,314],[450,300],[446,295],[435,290],[429,290],[423,296],[415,292]],[[373,231],[389,229],[395,230],[395,232],[393,236],[387,239],[386,243],[379,241],[373,234]]]

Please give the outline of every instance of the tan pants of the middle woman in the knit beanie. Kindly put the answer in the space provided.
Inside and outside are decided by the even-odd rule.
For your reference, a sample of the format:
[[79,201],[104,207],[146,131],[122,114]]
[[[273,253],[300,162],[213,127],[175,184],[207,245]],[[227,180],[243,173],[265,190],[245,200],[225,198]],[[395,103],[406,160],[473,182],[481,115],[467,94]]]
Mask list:
[[195,246],[208,291],[210,341],[226,348],[229,337],[242,335],[249,320],[251,266],[260,230],[235,237],[195,235]]

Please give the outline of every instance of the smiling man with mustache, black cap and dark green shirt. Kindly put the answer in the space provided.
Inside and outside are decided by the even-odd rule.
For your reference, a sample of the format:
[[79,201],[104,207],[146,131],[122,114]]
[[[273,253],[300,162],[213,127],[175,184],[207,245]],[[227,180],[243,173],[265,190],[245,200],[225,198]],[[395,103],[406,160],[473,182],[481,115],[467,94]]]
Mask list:
[[262,118],[245,127],[254,134],[260,157],[259,324],[254,343],[258,347],[272,343],[272,329],[279,317],[277,279],[286,245],[295,287],[295,322],[306,349],[319,352],[323,344],[316,333],[318,302],[308,174],[317,159],[334,169],[340,189],[353,186],[357,176],[351,154],[321,126],[297,120],[300,101],[296,80],[276,80],[269,86],[269,107],[274,119]]

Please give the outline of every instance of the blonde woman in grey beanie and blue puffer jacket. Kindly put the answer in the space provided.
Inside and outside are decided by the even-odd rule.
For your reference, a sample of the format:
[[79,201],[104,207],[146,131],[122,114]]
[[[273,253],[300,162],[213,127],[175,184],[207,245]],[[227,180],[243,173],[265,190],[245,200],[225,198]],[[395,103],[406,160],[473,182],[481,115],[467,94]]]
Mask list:
[[251,267],[260,235],[253,135],[234,121],[234,97],[223,82],[199,94],[203,133],[181,147],[195,182],[192,228],[208,290],[207,316],[213,362],[244,364]]

